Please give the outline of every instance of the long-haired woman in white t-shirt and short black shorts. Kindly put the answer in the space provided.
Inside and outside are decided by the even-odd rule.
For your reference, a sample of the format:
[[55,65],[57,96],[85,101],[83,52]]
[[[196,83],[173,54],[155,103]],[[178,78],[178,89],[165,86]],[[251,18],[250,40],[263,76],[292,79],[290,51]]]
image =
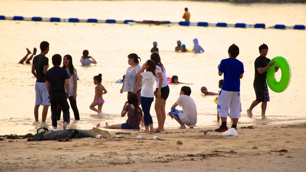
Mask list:
[[167,82],[166,70],[162,65],[159,54],[152,53],[151,60],[154,61],[156,64],[156,70],[155,70],[156,90],[154,91],[154,95],[156,95],[155,112],[158,121],[158,127],[155,129],[155,131],[157,130],[163,131],[165,130],[164,124],[166,120],[166,111],[165,111],[166,100],[169,96],[170,90]]

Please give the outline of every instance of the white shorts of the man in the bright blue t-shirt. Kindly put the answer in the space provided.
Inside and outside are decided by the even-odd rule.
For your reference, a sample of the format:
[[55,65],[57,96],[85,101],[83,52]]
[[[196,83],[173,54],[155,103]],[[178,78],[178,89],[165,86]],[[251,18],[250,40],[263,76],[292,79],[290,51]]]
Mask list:
[[240,118],[240,112],[242,111],[240,92],[229,92],[221,89],[218,95],[217,110],[219,117],[227,117],[230,111],[230,118]]

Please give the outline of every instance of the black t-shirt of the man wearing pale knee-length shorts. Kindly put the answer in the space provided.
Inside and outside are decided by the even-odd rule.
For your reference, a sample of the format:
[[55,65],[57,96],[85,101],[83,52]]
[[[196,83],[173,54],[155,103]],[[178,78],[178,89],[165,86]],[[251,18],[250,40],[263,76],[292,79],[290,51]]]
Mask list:
[[46,56],[38,54],[33,58],[33,65],[35,65],[35,71],[37,75],[36,82],[46,82],[45,74],[43,73],[43,67],[49,64],[49,59]]

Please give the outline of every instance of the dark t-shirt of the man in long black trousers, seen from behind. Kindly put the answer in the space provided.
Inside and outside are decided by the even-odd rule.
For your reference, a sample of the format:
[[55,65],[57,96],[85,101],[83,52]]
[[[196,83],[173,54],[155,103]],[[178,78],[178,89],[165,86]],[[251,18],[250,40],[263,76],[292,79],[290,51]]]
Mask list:
[[65,80],[69,79],[66,69],[59,66],[53,66],[46,73],[46,80],[50,82],[49,95],[58,97],[67,97],[65,92]]

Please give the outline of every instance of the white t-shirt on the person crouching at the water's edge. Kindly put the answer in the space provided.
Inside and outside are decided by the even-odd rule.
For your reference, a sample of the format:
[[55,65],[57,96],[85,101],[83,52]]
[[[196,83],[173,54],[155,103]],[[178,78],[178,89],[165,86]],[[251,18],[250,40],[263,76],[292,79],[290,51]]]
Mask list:
[[175,103],[183,108],[183,113],[185,115],[185,118],[188,118],[190,122],[188,126],[195,127],[197,122],[197,111],[196,111],[196,103],[194,103],[194,100],[188,95],[183,94],[180,95],[180,97],[178,97]]

